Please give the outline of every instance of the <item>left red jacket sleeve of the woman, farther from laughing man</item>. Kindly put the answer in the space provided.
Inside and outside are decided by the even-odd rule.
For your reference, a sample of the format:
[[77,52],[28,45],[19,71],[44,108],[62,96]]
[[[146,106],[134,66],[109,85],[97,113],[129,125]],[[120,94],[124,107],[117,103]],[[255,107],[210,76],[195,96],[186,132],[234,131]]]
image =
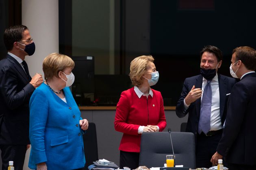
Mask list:
[[[131,134],[131,135],[139,135],[138,129],[139,125],[126,123],[126,120],[129,115],[129,100],[132,100],[129,98],[128,94],[123,91],[121,93],[121,97],[119,99],[119,102],[117,103],[117,109],[115,113],[115,130],[118,132]],[[159,127],[160,128],[160,127]]]

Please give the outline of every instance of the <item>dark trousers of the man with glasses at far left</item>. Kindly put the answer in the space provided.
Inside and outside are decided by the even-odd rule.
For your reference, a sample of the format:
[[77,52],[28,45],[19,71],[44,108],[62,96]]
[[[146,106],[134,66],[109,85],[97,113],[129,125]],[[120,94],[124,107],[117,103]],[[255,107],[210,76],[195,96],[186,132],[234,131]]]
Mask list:
[[2,151],[2,170],[7,170],[9,161],[13,161],[15,170],[23,170],[27,145],[0,145]]

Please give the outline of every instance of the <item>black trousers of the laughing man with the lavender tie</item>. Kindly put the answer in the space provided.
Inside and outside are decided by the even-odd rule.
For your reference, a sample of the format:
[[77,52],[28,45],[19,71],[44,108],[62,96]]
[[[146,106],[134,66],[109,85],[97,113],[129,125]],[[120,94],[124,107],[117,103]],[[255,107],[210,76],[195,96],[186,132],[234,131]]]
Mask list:
[[[212,167],[210,159],[216,152],[221,135],[221,132],[214,136],[205,136],[203,132],[201,134],[197,134],[197,143],[195,148],[196,168]],[[225,162],[223,162],[223,165],[225,166]]]

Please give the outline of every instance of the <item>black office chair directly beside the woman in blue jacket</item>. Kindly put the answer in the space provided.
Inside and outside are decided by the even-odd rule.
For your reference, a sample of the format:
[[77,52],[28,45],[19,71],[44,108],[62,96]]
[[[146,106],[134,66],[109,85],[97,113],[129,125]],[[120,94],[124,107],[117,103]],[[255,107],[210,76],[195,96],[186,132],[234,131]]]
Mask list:
[[86,133],[83,135],[83,140],[86,160],[85,168],[83,168],[83,170],[88,170],[88,166],[93,164],[93,161],[98,160],[98,145],[95,123],[89,122],[89,127],[86,130]]

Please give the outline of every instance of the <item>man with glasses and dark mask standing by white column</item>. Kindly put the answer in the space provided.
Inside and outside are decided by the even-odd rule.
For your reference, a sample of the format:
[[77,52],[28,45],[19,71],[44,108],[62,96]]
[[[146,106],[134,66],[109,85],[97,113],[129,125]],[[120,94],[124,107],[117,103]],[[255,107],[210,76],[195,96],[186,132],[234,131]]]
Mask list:
[[13,26],[4,31],[7,56],[0,61],[0,149],[2,170],[14,161],[15,170],[22,170],[29,148],[30,96],[42,82],[41,74],[30,77],[24,61],[33,55],[35,44],[26,26]]

